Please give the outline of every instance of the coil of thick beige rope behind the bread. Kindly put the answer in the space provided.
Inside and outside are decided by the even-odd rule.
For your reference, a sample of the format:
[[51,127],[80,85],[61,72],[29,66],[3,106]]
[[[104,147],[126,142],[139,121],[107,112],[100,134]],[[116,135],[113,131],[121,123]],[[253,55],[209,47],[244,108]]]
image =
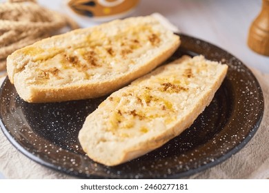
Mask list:
[[66,26],[72,30],[79,28],[69,17],[42,8],[34,0],[0,3],[0,70],[6,69],[9,54]]

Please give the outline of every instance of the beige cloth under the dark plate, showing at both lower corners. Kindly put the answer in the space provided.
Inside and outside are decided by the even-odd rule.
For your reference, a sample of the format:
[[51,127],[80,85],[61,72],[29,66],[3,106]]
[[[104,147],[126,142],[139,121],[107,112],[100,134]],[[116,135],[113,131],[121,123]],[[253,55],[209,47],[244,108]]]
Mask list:
[[[237,154],[190,179],[269,179],[269,74],[253,70],[265,98],[261,126],[252,140]],[[0,132],[0,171],[6,179],[73,179],[43,167],[16,150]]]

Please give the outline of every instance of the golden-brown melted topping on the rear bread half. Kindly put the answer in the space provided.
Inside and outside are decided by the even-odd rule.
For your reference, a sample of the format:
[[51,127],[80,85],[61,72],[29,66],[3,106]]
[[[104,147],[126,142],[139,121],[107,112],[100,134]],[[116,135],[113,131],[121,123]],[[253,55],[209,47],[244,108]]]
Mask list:
[[28,47],[37,68],[31,70],[35,84],[62,85],[83,80],[99,80],[101,76],[114,76],[133,70],[139,58],[148,50],[157,48],[161,38],[150,26],[135,26],[106,37],[95,30],[79,44],[68,48]]

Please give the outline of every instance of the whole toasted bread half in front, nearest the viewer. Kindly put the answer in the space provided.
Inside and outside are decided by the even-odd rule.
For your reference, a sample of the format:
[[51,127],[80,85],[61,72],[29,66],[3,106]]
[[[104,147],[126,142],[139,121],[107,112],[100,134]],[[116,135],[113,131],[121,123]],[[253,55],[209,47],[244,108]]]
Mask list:
[[186,130],[221,85],[228,65],[182,57],[112,93],[79,132],[90,159],[119,165]]

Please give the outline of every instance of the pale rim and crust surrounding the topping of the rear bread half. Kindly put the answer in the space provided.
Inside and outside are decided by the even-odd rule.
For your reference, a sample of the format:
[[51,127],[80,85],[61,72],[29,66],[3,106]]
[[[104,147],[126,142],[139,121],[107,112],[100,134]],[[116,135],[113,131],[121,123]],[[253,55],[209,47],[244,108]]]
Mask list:
[[[103,78],[105,76],[102,75],[100,76],[101,78],[99,80],[83,80],[78,82],[65,83],[63,85],[38,85],[37,83],[32,83],[29,81],[29,79],[37,79],[37,76],[31,75],[31,73],[33,73],[32,71],[34,71],[33,69],[42,68],[42,65],[45,65],[44,63],[47,59],[43,59],[44,62],[39,62],[40,58],[43,55],[44,57],[48,57],[50,53],[52,53],[52,55],[53,53],[54,55],[57,55],[59,54],[59,52],[63,52],[63,50],[70,47],[83,46],[85,44],[85,39],[93,36],[94,33],[94,36],[99,37],[99,31],[109,36],[109,30],[117,31],[120,28],[132,28],[136,25],[151,25],[153,32],[160,33],[162,35],[160,37],[162,38],[168,38],[161,39],[161,43],[160,45],[158,45],[158,49],[155,49],[154,51],[157,54],[152,53],[151,56],[151,52],[149,52],[146,56],[142,56],[142,64],[139,64],[137,68],[128,70],[123,73],[114,74],[114,76],[110,76],[108,77],[108,79]],[[132,30],[130,31],[132,32]],[[116,36],[117,32],[114,32],[114,35]],[[126,36],[127,35],[128,33],[126,33]],[[106,41],[106,35],[101,38],[104,38],[103,41]],[[90,41],[95,40],[90,39]],[[170,57],[173,52],[177,50],[179,44],[179,37],[175,34],[172,34],[172,32],[170,32],[169,30],[165,30],[165,28],[161,26],[159,21],[157,21],[153,17],[129,18],[122,21],[112,21],[110,23],[105,23],[100,26],[95,26],[93,28],[74,30],[66,34],[61,34],[54,37],[50,37],[48,39],[43,39],[41,41],[38,41],[37,43],[34,43],[33,45],[29,45],[25,48],[17,50],[16,52],[12,53],[7,59],[7,72],[10,82],[14,83],[14,86],[17,89],[19,96],[23,100],[30,103],[90,99],[106,95],[113,92],[114,90],[118,90],[124,85],[130,83],[130,81],[150,72],[150,70],[156,68],[157,65],[168,59],[168,57]],[[39,52],[39,50],[43,50],[43,52]],[[46,53],[47,50],[48,53]],[[97,57],[99,57],[99,55]],[[29,69],[31,68],[32,71],[30,72]]]

